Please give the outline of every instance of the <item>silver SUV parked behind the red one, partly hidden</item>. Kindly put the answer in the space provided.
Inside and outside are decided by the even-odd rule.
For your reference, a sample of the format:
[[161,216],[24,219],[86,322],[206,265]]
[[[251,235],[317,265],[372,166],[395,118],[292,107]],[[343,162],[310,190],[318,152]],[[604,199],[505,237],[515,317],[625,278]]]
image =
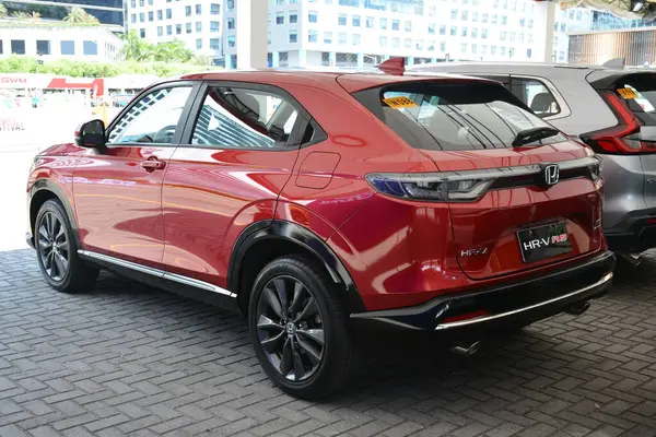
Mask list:
[[656,72],[513,62],[413,70],[497,80],[539,117],[588,144],[601,157],[610,249],[637,262],[637,253],[656,247]]

